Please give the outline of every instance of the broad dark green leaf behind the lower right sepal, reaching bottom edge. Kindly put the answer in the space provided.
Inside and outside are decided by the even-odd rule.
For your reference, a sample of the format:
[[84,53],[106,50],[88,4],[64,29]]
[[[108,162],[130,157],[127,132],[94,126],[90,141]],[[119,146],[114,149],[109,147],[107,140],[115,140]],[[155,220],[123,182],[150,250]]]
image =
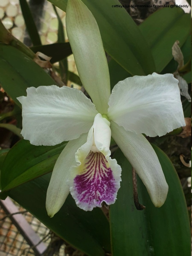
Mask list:
[[153,148],[164,171],[169,192],[164,205],[156,208],[137,177],[139,203],[146,206],[143,211],[138,211],[134,205],[132,167],[120,150],[115,154],[122,167],[122,182],[117,201],[110,206],[113,256],[190,255],[190,225],[180,180],[165,153],[155,145]]

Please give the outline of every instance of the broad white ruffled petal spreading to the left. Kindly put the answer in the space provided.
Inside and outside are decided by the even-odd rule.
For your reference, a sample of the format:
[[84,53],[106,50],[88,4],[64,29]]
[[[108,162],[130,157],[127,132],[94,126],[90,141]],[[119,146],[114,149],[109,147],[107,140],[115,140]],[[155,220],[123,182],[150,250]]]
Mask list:
[[98,113],[81,91],[56,85],[27,88],[22,104],[24,139],[33,145],[53,146],[89,131]]

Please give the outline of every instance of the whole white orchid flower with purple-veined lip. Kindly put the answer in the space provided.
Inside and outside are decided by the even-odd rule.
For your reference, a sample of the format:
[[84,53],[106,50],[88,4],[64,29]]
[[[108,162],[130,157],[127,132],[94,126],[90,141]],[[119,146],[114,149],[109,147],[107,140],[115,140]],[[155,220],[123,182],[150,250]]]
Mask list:
[[113,204],[121,167],[111,159],[111,136],[145,184],[153,204],[166,200],[168,185],[150,143],[142,135],[162,136],[185,126],[178,88],[172,74],[129,77],[110,93],[108,64],[98,25],[80,0],[68,0],[67,34],[81,91],[56,85],[30,87],[18,100],[23,107],[24,139],[33,145],[69,140],[54,166],[47,190],[50,217],[71,192],[84,210]]

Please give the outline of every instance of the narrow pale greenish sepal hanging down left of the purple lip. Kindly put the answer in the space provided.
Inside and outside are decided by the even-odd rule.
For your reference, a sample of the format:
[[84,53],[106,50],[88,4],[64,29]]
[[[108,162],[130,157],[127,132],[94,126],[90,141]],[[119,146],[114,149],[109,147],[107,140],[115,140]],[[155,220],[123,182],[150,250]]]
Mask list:
[[69,171],[75,164],[75,152],[86,142],[86,139],[87,134],[82,134],[78,139],[69,141],[56,161],[46,197],[46,209],[50,217],[60,210],[69,194],[67,185]]

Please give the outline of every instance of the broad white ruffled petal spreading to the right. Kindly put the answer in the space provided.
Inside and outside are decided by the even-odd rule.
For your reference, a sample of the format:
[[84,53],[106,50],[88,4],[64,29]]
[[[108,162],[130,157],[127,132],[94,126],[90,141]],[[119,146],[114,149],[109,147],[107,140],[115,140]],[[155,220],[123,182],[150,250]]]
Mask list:
[[151,137],[185,126],[178,80],[156,73],[126,78],[114,86],[107,115],[125,130]]

